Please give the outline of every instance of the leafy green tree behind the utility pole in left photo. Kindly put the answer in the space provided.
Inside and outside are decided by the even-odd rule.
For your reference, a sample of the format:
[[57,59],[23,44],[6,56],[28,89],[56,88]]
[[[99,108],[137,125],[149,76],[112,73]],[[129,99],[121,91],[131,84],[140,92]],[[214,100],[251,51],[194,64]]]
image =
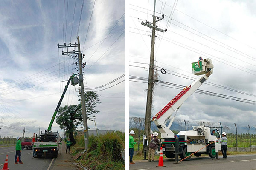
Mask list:
[[[96,105],[101,103],[99,95],[93,91],[87,91],[84,94],[84,98],[87,119],[93,121],[92,118],[95,117],[95,114],[99,113],[99,111],[95,109]],[[83,125],[81,99],[78,101],[78,105],[65,105],[64,107],[60,107],[56,116],[56,122],[60,125],[61,129],[65,129],[67,131],[72,145],[76,144],[73,132],[79,125]]]

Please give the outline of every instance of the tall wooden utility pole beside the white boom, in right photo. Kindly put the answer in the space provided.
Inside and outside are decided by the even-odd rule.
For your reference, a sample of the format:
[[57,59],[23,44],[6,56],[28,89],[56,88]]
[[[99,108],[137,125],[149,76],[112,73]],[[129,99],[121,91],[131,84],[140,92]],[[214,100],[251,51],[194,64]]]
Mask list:
[[[164,15],[162,18],[155,16],[155,8],[156,8],[156,0],[154,0],[154,14],[153,14],[153,23],[146,21],[145,23],[142,22],[141,24],[152,28],[152,39],[151,39],[151,52],[150,52],[150,62],[149,62],[149,74],[148,74],[148,94],[147,94],[147,105],[146,105],[146,116],[145,116],[145,130],[144,134],[146,136],[150,136],[150,126],[151,126],[151,111],[152,111],[152,98],[153,98],[153,86],[154,86],[154,44],[155,44],[155,32],[165,32],[166,30],[157,28],[156,22],[163,20]],[[150,140],[150,139],[149,139]]]

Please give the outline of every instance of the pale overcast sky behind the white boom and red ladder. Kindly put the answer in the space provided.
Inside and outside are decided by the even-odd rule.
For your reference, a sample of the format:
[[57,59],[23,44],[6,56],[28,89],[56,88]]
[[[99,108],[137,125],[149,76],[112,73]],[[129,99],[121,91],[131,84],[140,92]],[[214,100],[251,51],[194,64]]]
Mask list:
[[[179,85],[201,77],[192,74],[191,63],[202,56],[214,68],[198,91],[222,97],[193,93],[175,119],[256,126],[255,6],[253,0],[156,0],[155,15],[164,14],[157,26],[167,31],[156,31],[154,66],[157,80],[169,84],[155,83],[151,117],[183,89]],[[130,117],[145,118],[152,31],[141,23],[152,22],[153,10],[153,0],[129,4]]]

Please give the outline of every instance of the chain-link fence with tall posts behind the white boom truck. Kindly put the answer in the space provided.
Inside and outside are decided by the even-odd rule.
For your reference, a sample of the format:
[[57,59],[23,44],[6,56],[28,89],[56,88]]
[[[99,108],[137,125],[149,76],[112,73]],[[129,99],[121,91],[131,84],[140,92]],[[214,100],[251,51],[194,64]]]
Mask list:
[[[167,119],[166,125],[170,119]],[[141,139],[145,127],[145,118],[130,117],[130,130],[134,130],[134,138]],[[220,133],[226,132],[228,138],[228,147],[256,147],[256,125],[243,125],[227,122],[201,122],[191,120],[175,119],[170,129],[175,133],[184,130],[192,130],[193,126],[205,125],[216,127]],[[151,130],[153,132],[158,129],[154,122],[151,122]],[[140,141],[140,140],[139,140]]]

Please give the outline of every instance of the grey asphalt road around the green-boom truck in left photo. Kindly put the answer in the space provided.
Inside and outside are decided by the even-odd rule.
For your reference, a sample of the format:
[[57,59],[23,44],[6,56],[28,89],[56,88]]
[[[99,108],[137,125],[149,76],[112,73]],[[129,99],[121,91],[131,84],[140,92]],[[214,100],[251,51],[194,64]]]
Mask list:
[[[8,167],[10,170],[47,170],[50,163],[55,163],[51,156],[47,158],[34,158],[32,159],[33,150],[24,149],[21,151],[21,160],[24,164],[14,164],[15,146],[1,147],[0,148],[0,169],[3,168],[6,155],[8,155]],[[53,161],[52,161],[53,160]],[[51,166],[52,168],[52,166]]]

